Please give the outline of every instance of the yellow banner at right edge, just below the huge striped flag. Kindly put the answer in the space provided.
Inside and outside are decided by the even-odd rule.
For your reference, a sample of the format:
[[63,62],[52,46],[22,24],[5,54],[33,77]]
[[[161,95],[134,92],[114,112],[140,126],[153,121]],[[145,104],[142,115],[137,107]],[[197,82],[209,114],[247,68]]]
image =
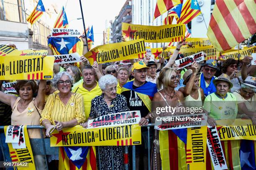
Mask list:
[[[252,53],[256,53],[256,46],[239,50],[240,60],[243,60],[244,56],[251,56]],[[238,50],[233,52],[226,52],[220,56],[220,60],[227,60],[228,58],[238,60]]]

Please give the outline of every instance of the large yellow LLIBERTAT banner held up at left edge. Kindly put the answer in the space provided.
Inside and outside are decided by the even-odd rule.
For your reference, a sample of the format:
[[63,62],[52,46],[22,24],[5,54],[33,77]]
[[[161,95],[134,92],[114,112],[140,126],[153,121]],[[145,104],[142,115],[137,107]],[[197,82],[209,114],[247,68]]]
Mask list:
[[0,80],[52,79],[54,57],[0,57]]

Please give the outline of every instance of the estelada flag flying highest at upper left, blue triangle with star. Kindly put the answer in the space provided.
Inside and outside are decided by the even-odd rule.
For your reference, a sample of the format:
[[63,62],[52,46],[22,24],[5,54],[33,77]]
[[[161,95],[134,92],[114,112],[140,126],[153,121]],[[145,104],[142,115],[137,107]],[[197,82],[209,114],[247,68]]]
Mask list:
[[28,16],[27,21],[33,25],[45,12],[42,0],[39,0],[32,13]]

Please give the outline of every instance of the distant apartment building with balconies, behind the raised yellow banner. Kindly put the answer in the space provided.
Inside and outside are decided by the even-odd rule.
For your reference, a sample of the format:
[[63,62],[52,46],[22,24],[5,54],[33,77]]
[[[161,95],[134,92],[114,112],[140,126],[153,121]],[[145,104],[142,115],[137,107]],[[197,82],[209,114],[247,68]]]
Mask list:
[[132,1],[126,0],[120,13],[112,23],[113,43],[121,42],[122,23],[132,23]]

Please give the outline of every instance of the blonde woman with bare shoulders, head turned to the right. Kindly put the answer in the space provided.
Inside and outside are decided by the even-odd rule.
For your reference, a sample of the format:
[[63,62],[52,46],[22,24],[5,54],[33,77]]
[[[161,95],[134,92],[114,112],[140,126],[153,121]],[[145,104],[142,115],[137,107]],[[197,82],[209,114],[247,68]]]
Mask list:
[[[159,77],[156,80],[157,88],[160,90],[156,92],[152,100],[153,112],[151,112],[152,122],[156,117],[166,117],[172,115],[180,115],[179,112],[162,112],[156,114],[157,107],[183,107],[184,97],[182,92],[174,90],[178,85],[179,76],[176,75],[174,69],[166,67],[161,70]],[[154,141],[159,141],[159,130],[155,130]],[[151,152],[151,169],[160,170],[161,157],[159,151],[159,142],[154,142]]]

